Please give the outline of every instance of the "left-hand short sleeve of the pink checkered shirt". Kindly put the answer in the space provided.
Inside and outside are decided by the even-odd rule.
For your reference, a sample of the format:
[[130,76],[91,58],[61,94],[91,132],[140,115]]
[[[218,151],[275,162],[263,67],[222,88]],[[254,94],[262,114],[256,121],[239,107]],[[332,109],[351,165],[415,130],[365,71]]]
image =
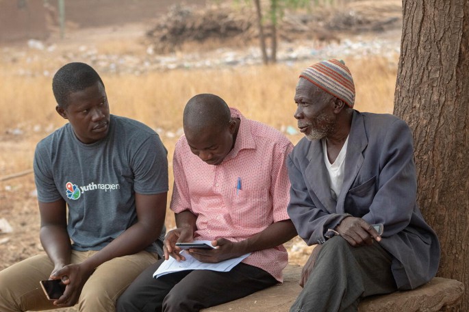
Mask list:
[[183,138],[177,141],[173,155],[174,185],[170,209],[175,213],[190,210],[189,187],[181,163],[184,155],[183,144],[187,144]]

